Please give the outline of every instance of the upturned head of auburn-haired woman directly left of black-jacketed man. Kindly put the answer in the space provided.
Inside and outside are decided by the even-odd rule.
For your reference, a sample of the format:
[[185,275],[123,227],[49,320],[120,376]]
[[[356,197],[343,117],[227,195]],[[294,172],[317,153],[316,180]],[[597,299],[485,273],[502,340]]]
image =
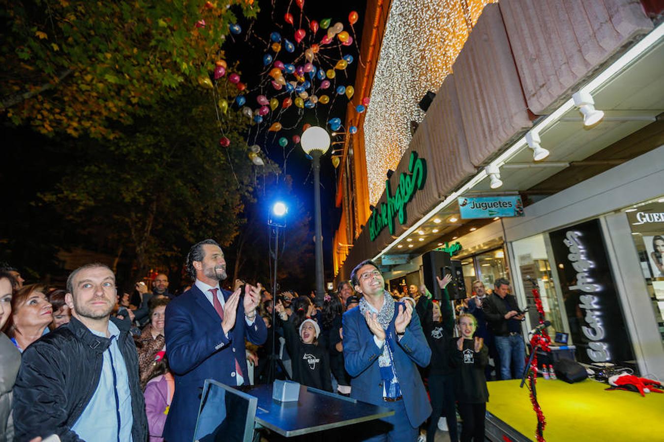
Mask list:
[[46,284],[23,286],[11,298],[9,337],[21,353],[44,335],[53,321],[53,307],[46,299]]

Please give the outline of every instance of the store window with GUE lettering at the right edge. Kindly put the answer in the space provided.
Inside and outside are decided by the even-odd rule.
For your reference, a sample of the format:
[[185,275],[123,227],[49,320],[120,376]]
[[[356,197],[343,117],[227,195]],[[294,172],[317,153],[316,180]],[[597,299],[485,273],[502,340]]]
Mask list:
[[664,341],[664,198],[646,201],[625,212]]

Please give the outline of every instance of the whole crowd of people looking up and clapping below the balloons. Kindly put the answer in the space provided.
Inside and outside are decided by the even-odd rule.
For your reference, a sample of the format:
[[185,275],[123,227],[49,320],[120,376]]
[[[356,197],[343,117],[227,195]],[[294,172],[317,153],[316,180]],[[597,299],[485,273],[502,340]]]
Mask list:
[[524,313],[504,279],[489,295],[473,282],[455,311],[449,277],[438,280],[442,300],[424,286],[390,293],[370,260],[321,305],[313,292],[273,299],[227,282],[213,240],[191,248],[186,270],[179,296],[157,274],[132,299],[104,264],[74,270],[64,288],[1,266],[0,441],[191,441],[205,379],[274,377],[394,410],[358,440],[430,442],[446,427],[457,441],[458,413],[461,441],[483,441],[489,358],[497,378],[523,371]]

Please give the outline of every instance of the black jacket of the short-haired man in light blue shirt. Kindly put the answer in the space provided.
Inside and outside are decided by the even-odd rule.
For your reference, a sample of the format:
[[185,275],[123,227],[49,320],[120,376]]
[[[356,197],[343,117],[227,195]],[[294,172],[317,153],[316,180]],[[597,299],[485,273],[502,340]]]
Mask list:
[[[111,318],[120,329],[118,346],[127,366],[133,442],[147,439],[145,401],[139,384],[136,347],[129,319]],[[56,434],[62,441],[80,441],[71,430],[92,398],[102,374],[110,339],[98,337],[78,319],[58,327],[30,345],[14,386],[15,440]],[[103,419],[104,417],[100,417]]]

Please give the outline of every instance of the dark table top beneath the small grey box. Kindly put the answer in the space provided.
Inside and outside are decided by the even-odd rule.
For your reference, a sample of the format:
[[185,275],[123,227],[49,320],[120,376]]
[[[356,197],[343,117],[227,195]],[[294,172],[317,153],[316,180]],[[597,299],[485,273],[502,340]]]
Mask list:
[[256,422],[291,437],[380,419],[394,411],[315,388],[300,386],[297,402],[272,399],[272,384],[238,387],[258,398]]

